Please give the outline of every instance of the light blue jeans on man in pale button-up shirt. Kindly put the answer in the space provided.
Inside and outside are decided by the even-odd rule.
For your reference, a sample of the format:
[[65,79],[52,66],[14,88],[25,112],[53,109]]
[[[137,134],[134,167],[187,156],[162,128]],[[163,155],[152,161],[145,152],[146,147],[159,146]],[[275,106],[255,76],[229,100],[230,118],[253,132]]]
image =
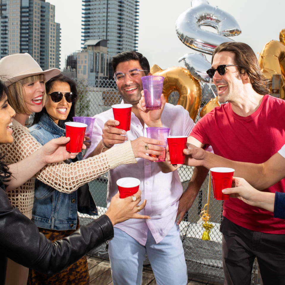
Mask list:
[[141,285],[145,254],[148,255],[157,285],[187,284],[187,267],[176,223],[158,244],[148,231],[145,246],[121,229],[114,228],[114,238],[109,243],[113,284]]

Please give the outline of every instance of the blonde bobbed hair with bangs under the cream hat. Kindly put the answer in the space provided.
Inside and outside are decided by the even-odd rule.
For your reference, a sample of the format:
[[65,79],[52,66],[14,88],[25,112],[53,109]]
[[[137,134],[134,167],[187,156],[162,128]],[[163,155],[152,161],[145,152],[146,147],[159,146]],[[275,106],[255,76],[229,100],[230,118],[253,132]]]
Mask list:
[[[45,75],[38,74],[23,78],[21,80],[16,81],[15,83],[8,86],[8,102],[10,106],[16,111],[18,114],[27,114],[29,115],[31,112],[28,110],[26,102],[25,102],[25,94],[23,94],[23,85],[27,83],[36,82],[37,80],[43,80],[45,83]],[[47,102],[47,94],[42,97],[42,106],[44,107]]]

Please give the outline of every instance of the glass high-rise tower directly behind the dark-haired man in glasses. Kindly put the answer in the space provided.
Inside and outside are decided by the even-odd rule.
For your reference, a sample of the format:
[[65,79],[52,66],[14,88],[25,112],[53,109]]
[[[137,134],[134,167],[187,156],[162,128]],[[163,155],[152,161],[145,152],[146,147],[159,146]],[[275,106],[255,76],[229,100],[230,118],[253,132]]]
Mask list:
[[83,0],[82,44],[91,39],[107,40],[110,57],[137,50],[138,0]]

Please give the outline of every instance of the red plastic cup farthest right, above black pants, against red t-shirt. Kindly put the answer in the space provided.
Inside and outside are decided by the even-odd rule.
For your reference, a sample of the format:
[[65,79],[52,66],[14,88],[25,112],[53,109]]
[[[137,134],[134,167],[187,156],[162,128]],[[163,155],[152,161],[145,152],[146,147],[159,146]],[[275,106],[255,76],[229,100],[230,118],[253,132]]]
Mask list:
[[232,187],[234,169],[229,167],[210,168],[213,184],[213,193],[216,200],[228,200],[229,195],[222,192],[225,188]]

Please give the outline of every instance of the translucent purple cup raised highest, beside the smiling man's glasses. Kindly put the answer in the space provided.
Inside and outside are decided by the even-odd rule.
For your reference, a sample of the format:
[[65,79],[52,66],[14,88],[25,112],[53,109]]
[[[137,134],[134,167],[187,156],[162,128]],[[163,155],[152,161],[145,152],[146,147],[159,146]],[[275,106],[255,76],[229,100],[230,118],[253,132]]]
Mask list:
[[143,94],[145,96],[145,107],[148,110],[161,108],[161,94],[164,77],[162,76],[143,76]]

